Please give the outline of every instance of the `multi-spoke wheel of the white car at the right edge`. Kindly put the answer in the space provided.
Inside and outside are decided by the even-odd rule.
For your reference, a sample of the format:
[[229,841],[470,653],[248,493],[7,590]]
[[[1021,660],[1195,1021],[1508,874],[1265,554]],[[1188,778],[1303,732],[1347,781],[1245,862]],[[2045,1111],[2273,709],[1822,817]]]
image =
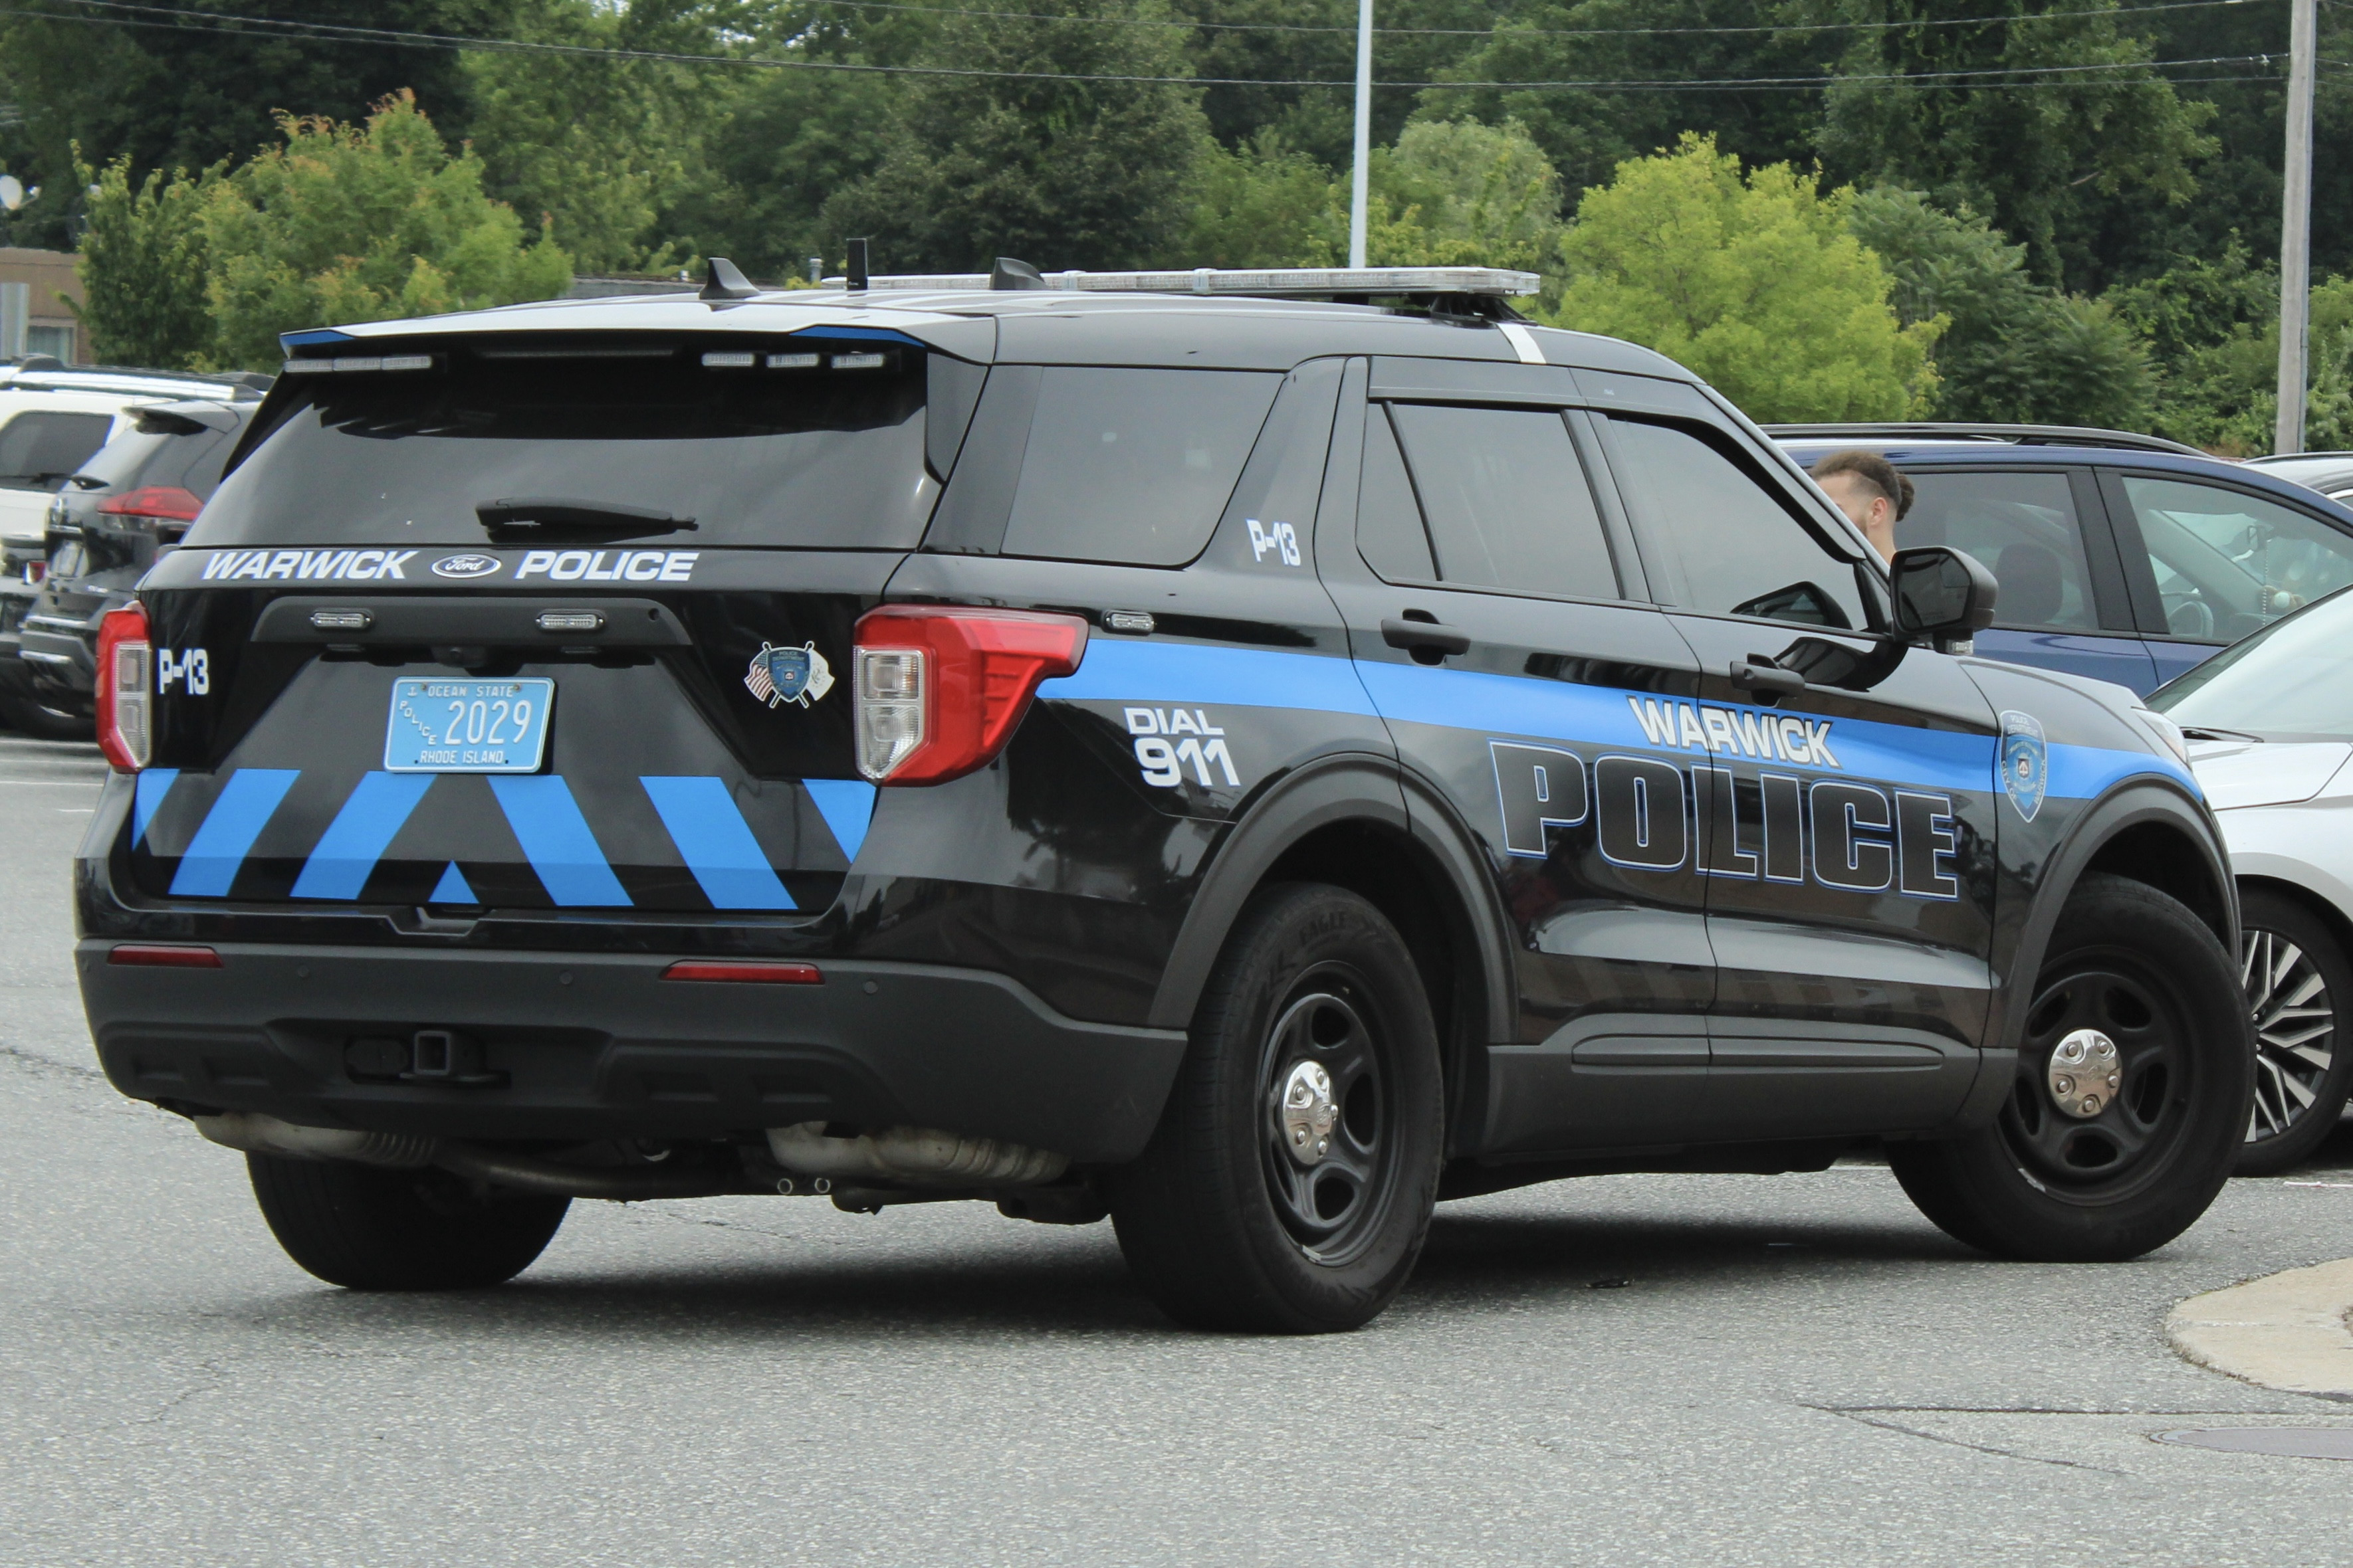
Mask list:
[[2313,1157],[2353,1088],[2353,1006],[2344,943],[2294,898],[2240,900],[2238,973],[2254,1016],[2254,1110],[2238,1152],[2240,1175],[2278,1175]]

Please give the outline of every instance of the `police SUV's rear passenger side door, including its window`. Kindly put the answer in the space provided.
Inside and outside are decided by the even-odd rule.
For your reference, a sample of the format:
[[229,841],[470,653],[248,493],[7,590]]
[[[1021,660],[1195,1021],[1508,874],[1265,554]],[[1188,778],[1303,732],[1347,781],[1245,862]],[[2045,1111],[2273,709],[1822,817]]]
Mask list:
[[1494,1152],[1689,1135],[1706,1088],[1701,827],[1635,717],[1692,696],[1697,670],[1628,595],[1640,569],[1574,402],[1562,369],[1374,360],[1318,520],[1400,759],[1487,846],[1511,917]]

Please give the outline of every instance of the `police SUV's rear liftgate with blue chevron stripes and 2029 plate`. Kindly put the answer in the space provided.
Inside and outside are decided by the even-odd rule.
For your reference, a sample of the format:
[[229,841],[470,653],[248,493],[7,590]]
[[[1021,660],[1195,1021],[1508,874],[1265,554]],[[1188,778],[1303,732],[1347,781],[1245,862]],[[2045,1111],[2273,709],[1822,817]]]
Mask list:
[[981,369],[896,336],[388,350],[287,376],[141,592],[132,884],[435,919],[824,910],[873,806],[852,628]]

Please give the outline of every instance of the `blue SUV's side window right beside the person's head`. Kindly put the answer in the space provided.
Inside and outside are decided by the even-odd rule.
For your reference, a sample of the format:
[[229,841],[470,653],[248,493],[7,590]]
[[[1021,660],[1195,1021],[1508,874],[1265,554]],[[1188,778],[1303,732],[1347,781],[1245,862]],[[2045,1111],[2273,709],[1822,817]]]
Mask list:
[[1897,545],[1953,545],[2002,583],[1995,621],[2099,630],[2082,527],[2064,473],[1915,473]]

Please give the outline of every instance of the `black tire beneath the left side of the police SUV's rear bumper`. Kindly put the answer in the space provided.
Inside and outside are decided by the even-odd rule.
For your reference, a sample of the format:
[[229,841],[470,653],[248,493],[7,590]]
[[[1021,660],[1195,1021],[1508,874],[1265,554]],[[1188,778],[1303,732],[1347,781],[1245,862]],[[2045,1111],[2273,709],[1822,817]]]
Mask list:
[[348,1291],[471,1291],[546,1251],[572,1199],[478,1194],[447,1171],[247,1154],[254,1201],[287,1258]]

